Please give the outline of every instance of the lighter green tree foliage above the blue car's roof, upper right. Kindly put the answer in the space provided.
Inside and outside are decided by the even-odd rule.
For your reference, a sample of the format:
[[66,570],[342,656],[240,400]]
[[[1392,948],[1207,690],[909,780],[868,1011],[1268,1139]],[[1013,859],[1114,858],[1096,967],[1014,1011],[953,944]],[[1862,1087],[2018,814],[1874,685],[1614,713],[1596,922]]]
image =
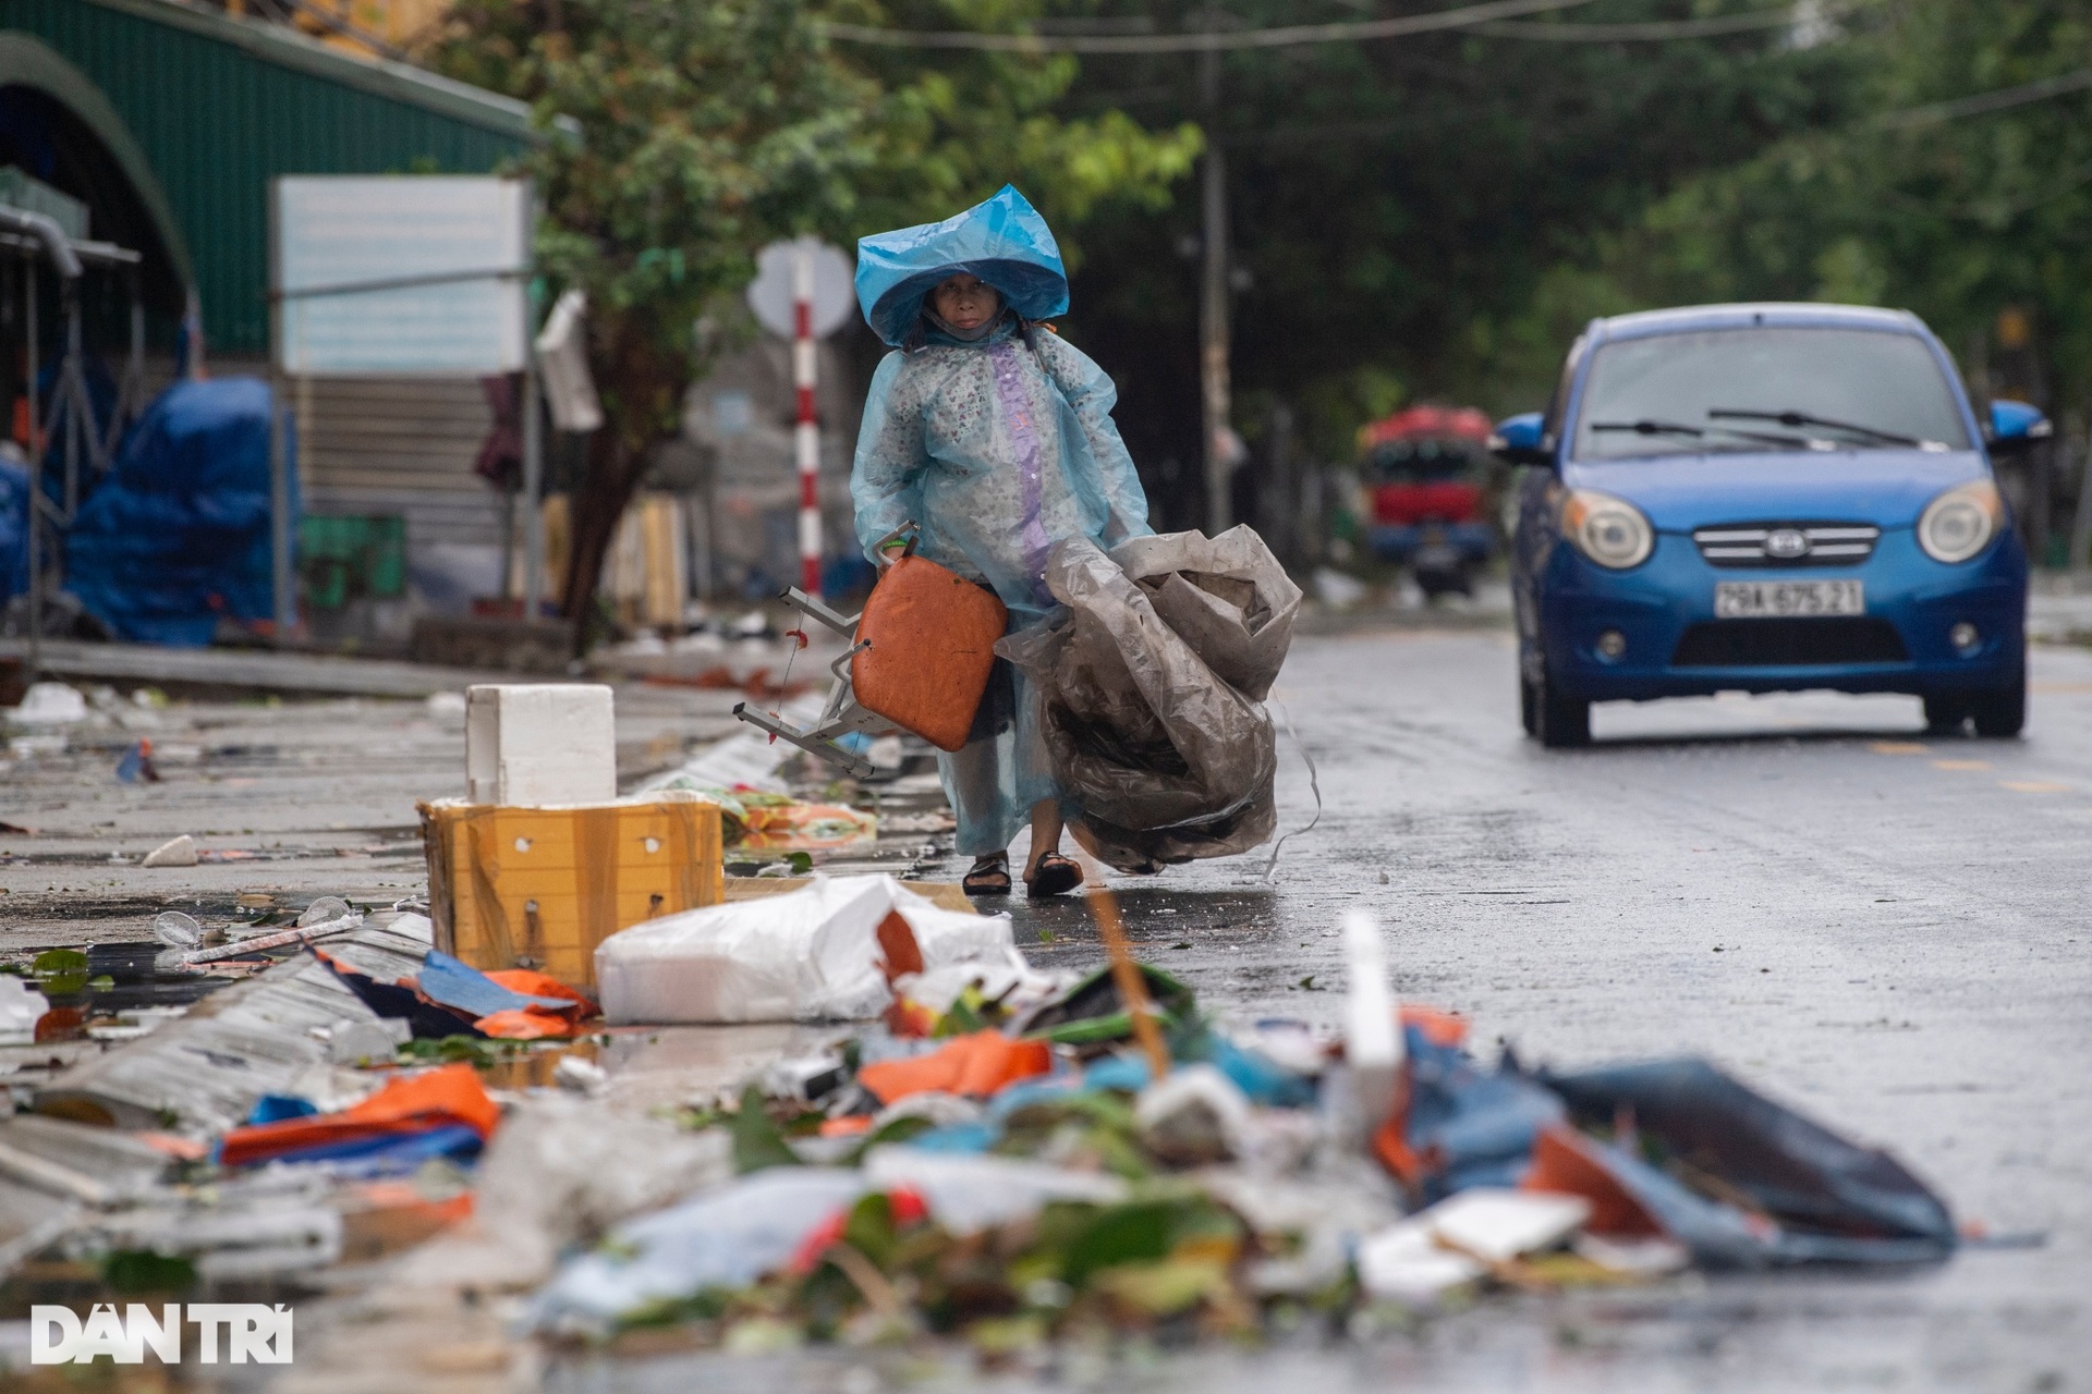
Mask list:
[[[2092,393],[2092,96],[2021,90],[2092,61],[2084,0],[1910,0],[1851,25],[1860,113],[1651,205],[1596,265],[1634,301],[1902,305],[1983,370],[2000,313],[2027,357],[1998,385]],[[1981,109],[1966,98],[2010,100]],[[2017,330],[2015,330],[2017,332]],[[2046,403],[2044,403],[2046,405]]]

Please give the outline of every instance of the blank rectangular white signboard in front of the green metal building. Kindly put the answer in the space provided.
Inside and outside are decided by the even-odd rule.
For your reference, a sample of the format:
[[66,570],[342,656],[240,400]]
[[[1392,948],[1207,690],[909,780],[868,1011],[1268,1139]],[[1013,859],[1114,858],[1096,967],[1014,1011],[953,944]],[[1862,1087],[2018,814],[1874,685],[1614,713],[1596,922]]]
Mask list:
[[529,215],[525,180],[276,180],[276,366],[289,374],[521,372]]

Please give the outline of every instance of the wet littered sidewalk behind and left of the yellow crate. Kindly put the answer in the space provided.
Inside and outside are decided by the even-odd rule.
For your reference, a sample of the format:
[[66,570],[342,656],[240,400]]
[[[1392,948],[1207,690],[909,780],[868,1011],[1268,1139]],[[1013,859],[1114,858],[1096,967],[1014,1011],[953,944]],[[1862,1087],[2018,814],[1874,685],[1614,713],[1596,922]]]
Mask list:
[[[79,683],[84,690],[90,683]],[[103,690],[88,721],[0,748],[0,955],[151,938],[161,909],[230,917],[236,897],[303,907],[339,895],[391,905],[427,872],[414,803],[464,794],[464,706],[423,700],[215,700],[142,706]],[[734,729],[734,692],[630,683],[619,692],[628,780]],[[153,742],[159,782],[117,763]],[[144,867],[167,838],[195,867]]]

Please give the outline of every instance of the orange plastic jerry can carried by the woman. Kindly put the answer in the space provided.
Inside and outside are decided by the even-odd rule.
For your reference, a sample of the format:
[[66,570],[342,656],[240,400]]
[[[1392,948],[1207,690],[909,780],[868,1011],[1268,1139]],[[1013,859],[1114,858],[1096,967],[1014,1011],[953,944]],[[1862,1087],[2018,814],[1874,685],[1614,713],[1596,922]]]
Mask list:
[[858,617],[849,686],[858,706],[958,750],[996,665],[1010,612],[994,591],[927,558],[887,566]]

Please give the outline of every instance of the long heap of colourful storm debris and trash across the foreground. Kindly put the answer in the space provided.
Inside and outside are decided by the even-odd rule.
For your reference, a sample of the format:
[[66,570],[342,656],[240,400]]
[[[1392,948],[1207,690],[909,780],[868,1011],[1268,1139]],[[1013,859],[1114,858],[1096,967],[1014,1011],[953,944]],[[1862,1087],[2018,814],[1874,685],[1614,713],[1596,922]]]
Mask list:
[[[477,1206],[492,1281],[550,1342],[948,1338],[1002,1361],[1954,1250],[1893,1158],[1703,1062],[1485,1066],[1460,1018],[1393,1005],[1370,922],[1347,924],[1339,1032],[1205,1012],[1092,905],[1111,961],[1040,972],[1002,915],[816,876],[602,940],[600,1012],[450,957],[412,909],[320,905],[264,926],[280,943],[245,953],[272,966],[8,1081],[0,1273],[42,1256],[73,1300],[253,1292]],[[190,928],[161,926],[163,972],[211,953]],[[33,997],[15,984],[0,1026],[44,1028]],[[801,1022],[805,1049],[674,1118],[611,1108],[605,1045],[718,1022]]]

